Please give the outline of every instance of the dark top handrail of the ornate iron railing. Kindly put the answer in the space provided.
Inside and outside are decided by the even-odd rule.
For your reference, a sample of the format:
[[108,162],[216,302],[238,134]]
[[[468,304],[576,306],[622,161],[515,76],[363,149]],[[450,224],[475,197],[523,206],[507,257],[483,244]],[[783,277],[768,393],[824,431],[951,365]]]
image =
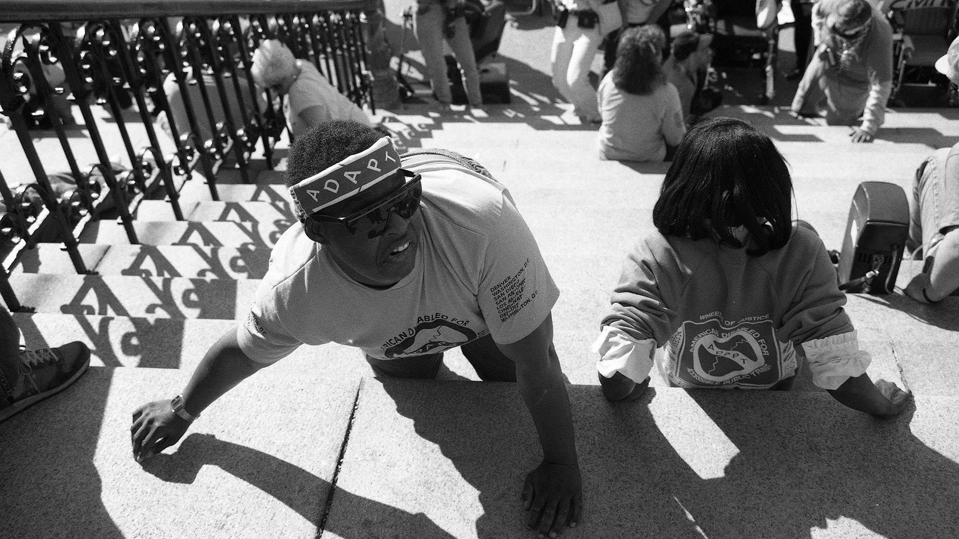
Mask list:
[[4,2],[0,22],[40,22],[98,18],[219,16],[366,10],[375,0],[16,0]]

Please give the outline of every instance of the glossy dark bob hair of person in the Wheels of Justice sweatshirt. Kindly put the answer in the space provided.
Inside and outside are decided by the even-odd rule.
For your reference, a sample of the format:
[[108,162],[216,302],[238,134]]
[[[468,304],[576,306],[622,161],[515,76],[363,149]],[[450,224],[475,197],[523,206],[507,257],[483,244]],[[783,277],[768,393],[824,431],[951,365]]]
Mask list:
[[744,226],[752,256],[785,246],[792,233],[792,178],[783,154],[742,120],[697,123],[676,150],[653,224],[664,236],[713,238],[734,248],[743,244],[732,229]]

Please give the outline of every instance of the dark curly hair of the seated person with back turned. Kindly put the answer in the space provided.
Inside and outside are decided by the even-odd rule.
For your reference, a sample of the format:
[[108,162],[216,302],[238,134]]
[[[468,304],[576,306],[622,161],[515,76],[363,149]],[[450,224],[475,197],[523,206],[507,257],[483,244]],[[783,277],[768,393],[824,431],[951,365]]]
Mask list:
[[666,34],[654,24],[626,29],[616,48],[616,63],[613,64],[616,87],[642,96],[666,82],[663,75],[665,47]]

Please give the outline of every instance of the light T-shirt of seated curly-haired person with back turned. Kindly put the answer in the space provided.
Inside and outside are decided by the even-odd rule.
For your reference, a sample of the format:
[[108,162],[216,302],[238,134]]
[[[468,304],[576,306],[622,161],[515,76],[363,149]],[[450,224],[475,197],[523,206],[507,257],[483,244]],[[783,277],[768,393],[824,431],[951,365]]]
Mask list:
[[599,158],[621,161],[662,161],[666,145],[678,146],[686,134],[683,107],[676,86],[666,82],[649,95],[621,91],[613,82],[615,70],[599,82],[596,99]]

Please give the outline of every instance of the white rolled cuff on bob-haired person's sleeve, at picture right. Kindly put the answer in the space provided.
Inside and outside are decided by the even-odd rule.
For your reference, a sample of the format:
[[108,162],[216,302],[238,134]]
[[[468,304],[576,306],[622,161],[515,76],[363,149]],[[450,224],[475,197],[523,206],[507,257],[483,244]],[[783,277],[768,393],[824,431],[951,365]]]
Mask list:
[[869,352],[859,350],[855,331],[803,342],[803,350],[812,372],[812,383],[823,389],[842,386],[849,378],[865,373],[873,361]]

